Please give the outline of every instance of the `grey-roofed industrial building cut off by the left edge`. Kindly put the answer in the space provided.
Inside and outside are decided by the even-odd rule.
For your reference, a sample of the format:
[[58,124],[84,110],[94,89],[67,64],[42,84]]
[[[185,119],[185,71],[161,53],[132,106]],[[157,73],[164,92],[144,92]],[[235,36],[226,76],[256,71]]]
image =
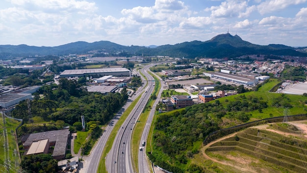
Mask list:
[[0,106],[8,108],[18,104],[20,101],[32,99],[32,93],[36,92],[41,86],[25,87],[12,92],[0,95]]

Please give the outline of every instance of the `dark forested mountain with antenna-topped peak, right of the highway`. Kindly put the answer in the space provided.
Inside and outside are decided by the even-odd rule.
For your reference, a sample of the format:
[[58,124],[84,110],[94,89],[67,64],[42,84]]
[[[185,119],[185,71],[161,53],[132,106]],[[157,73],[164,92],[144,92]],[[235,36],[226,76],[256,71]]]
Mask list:
[[289,46],[273,44],[268,46],[256,45],[242,40],[238,35],[232,36],[229,33],[217,35],[205,42],[191,41],[176,45],[163,45],[148,51],[148,55],[160,54],[184,58],[205,56],[210,58],[234,58],[257,54],[307,57],[306,52],[298,52]]

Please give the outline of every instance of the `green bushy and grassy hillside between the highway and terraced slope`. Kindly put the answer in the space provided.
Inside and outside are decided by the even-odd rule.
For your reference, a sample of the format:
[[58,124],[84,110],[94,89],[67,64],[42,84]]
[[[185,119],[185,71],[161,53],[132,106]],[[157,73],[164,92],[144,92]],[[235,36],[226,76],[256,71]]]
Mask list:
[[270,79],[258,91],[158,114],[154,122],[150,159],[171,172],[203,172],[206,167],[201,163],[195,163],[192,170],[189,165],[211,132],[253,120],[282,116],[284,109],[288,110],[289,115],[306,114],[307,97],[269,92],[280,82]]

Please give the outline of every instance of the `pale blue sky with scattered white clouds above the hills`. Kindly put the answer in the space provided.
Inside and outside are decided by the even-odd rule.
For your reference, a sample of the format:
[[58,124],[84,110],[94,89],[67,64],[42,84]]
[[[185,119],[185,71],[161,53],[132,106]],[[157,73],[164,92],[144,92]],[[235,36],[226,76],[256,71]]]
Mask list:
[[307,0],[0,0],[0,45],[206,41],[307,46]]

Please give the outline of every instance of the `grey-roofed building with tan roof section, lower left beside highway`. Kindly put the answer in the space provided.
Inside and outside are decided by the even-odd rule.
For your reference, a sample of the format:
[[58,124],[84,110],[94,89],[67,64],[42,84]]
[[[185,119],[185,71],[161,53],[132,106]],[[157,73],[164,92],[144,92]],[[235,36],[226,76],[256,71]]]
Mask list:
[[[65,158],[69,135],[69,129],[52,130],[29,134],[22,139],[22,142],[27,154],[39,154],[42,153],[42,150],[45,153],[46,148],[49,149],[49,146],[54,146],[51,156],[59,160]],[[46,140],[48,140],[48,143],[46,143]],[[47,147],[46,145],[49,146]]]

